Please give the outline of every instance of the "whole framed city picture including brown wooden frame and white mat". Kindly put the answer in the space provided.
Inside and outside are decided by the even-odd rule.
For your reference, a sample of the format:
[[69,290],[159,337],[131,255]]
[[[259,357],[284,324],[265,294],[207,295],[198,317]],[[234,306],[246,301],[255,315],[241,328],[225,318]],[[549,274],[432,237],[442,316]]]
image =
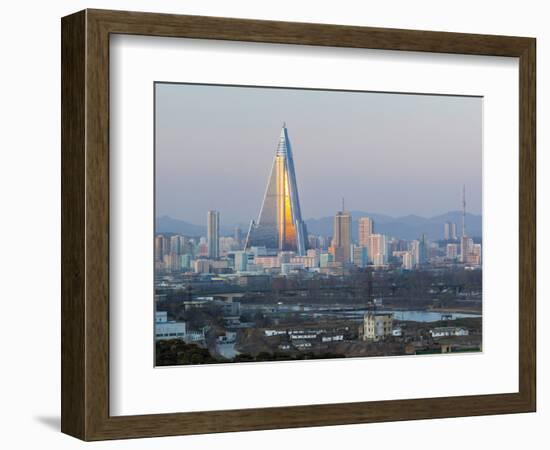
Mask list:
[[62,29],[62,431],[535,411],[535,39]]

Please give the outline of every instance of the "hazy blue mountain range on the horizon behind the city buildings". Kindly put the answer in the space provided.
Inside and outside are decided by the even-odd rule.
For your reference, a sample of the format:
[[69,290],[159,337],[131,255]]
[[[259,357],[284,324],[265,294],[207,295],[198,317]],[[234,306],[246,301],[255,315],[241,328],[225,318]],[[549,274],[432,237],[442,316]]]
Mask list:
[[[374,232],[383,233],[400,239],[418,239],[422,233],[428,239],[443,239],[445,222],[456,223],[457,233],[460,235],[462,227],[462,212],[450,211],[439,216],[425,218],[415,215],[404,217],[391,217],[383,214],[369,213],[364,211],[350,211],[352,216],[352,236],[357,239],[357,219],[370,217],[374,221]],[[320,219],[306,220],[307,230],[311,234],[332,236],[334,217],[322,217]],[[233,235],[236,226],[240,226],[243,234],[248,231],[248,224],[235,224],[231,226],[220,226],[222,235]],[[482,218],[475,214],[466,214],[466,232],[468,236],[481,237]],[[206,236],[205,225],[195,225],[183,220],[174,219],[169,216],[157,217],[157,233],[176,233],[188,236]]]

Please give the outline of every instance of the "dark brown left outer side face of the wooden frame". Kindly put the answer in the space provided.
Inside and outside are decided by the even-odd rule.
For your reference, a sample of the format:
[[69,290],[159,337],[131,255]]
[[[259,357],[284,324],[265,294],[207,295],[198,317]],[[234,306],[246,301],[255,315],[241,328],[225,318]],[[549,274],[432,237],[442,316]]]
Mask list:
[[85,432],[85,20],[65,17],[61,35],[61,430]]

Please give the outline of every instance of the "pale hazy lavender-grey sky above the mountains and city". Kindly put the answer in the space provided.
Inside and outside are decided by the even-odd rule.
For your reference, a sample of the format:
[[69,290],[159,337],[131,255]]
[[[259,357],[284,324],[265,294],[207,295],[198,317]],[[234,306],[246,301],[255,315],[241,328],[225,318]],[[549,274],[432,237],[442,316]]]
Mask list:
[[481,213],[482,99],[156,84],[156,215],[259,213],[283,122],[304,219]]

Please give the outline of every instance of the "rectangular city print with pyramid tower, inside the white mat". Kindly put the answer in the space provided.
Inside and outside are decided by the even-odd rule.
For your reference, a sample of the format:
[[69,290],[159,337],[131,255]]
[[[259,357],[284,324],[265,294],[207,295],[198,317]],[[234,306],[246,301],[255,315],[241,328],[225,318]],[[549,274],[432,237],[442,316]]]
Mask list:
[[156,89],[155,365],[481,351],[481,99]]

